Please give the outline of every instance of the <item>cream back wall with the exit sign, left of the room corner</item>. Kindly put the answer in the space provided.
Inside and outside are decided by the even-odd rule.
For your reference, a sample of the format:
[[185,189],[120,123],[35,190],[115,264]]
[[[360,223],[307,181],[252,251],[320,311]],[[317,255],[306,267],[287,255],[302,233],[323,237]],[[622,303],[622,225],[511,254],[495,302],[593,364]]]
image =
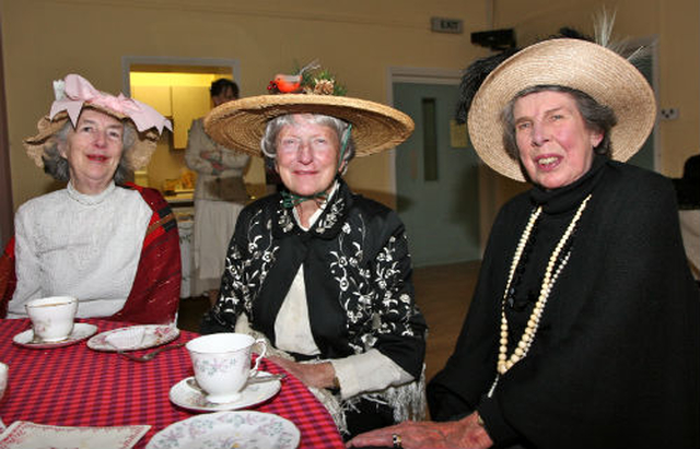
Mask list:
[[[52,101],[51,80],[84,75],[121,90],[121,57],[223,58],[241,62],[242,95],[264,94],[295,61],[318,58],[349,95],[385,103],[389,67],[460,69],[483,49],[485,2],[463,0],[4,0],[1,3],[15,208],[54,187],[24,154]],[[430,32],[431,16],[462,19],[463,35]],[[394,204],[392,159],[353,162],[346,179]]]

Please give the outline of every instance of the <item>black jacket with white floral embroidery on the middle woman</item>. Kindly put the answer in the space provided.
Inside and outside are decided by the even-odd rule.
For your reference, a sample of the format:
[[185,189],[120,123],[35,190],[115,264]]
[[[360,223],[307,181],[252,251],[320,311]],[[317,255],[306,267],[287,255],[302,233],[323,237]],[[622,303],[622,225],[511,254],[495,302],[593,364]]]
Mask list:
[[303,263],[308,319],[320,357],[376,348],[418,379],[427,326],[413,299],[404,225],[394,211],[339,182],[307,232],[279,193],[241,212],[220,299],[202,332],[232,331],[245,314],[254,330],[275,342],[277,314]]

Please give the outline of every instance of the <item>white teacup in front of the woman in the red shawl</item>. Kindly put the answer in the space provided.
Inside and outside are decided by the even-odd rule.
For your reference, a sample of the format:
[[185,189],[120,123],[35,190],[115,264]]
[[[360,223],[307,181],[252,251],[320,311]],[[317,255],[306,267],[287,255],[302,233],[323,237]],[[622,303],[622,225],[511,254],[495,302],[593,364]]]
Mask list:
[[78,299],[72,296],[32,299],[24,307],[32,320],[34,338],[43,342],[66,340],[73,331]]

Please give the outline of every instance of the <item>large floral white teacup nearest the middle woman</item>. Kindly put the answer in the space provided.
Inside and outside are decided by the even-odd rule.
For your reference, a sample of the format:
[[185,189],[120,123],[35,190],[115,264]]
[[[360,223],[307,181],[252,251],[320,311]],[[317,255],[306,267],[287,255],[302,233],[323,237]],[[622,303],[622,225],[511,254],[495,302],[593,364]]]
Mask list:
[[[254,344],[262,345],[262,352],[250,368]],[[267,351],[265,340],[232,332],[198,336],[185,347],[189,351],[197,383],[207,392],[207,400],[217,404],[233,402],[241,395]]]

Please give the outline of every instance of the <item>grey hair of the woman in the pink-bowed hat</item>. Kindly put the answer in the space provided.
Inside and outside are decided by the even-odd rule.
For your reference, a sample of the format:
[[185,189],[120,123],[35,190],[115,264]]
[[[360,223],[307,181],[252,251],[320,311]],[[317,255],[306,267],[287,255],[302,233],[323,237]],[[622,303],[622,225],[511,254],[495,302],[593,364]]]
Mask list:
[[[121,158],[119,159],[119,164],[117,165],[117,169],[113,177],[115,184],[118,185],[124,184],[129,179],[131,167],[129,166],[127,154],[133,147],[138,137],[137,130],[131,120],[124,119],[121,120],[121,123],[124,125],[124,133],[121,135],[124,149],[121,151]],[[66,120],[66,125],[63,125],[63,127],[54,134],[54,138],[50,139],[44,147],[44,155],[42,156],[42,159],[44,161],[44,172],[58,181],[68,181],[70,179],[68,159],[61,155],[61,152],[58,149],[60,145],[66,145],[68,143],[68,133],[71,130],[74,130],[73,123],[70,120]]]

